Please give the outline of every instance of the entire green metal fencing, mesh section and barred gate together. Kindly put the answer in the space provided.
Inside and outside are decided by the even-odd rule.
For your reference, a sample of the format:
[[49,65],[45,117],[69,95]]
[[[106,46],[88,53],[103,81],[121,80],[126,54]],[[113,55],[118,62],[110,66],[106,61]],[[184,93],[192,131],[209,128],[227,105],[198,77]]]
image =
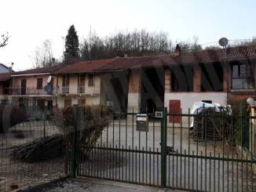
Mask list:
[[175,114],[164,109],[156,116],[115,112],[97,143],[83,146],[76,117],[70,142],[57,150],[60,155],[45,159],[47,147],[42,145],[34,156],[41,161],[35,162],[17,160],[13,151],[35,139],[61,135],[61,128],[52,119],[24,121],[0,133],[0,191],[68,175],[170,189],[255,191],[254,118],[215,111]]

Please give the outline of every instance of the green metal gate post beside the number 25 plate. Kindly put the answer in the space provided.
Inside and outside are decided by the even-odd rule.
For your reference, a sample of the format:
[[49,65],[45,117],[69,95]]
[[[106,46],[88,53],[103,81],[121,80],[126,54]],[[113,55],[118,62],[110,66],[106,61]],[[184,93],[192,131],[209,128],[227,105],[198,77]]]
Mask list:
[[166,188],[166,133],[167,133],[167,121],[166,121],[167,109],[163,108],[163,118],[161,121],[161,186]]

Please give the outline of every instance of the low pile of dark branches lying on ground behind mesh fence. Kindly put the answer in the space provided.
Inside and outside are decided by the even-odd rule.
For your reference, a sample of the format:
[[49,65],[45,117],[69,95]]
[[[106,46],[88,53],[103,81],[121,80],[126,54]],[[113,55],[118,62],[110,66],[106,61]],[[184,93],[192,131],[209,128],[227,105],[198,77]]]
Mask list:
[[29,163],[59,157],[64,152],[63,135],[47,136],[24,143],[13,150],[13,158]]

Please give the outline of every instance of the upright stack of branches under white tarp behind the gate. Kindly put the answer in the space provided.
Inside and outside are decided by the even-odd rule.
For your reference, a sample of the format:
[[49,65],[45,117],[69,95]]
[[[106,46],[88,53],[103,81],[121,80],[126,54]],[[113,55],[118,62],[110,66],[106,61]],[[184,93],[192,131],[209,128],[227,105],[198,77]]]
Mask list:
[[204,108],[194,118],[194,139],[218,140],[230,139],[231,116],[228,108],[218,111],[215,108]]

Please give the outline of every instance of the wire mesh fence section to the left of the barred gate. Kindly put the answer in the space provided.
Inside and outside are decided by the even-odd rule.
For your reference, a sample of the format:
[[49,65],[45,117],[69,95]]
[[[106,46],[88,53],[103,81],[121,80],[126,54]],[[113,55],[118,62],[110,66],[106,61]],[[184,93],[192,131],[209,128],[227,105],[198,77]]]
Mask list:
[[[46,120],[43,111],[41,114],[42,118],[36,121],[23,119],[0,132],[0,191],[20,190],[68,175],[68,155],[62,146],[60,128],[51,118]],[[2,119],[2,125],[11,119]],[[53,139],[56,150],[49,149],[54,144],[49,139],[57,136],[58,143]],[[32,145],[36,145],[35,150]],[[24,151],[30,155],[24,156]],[[49,158],[51,155],[53,158]]]

